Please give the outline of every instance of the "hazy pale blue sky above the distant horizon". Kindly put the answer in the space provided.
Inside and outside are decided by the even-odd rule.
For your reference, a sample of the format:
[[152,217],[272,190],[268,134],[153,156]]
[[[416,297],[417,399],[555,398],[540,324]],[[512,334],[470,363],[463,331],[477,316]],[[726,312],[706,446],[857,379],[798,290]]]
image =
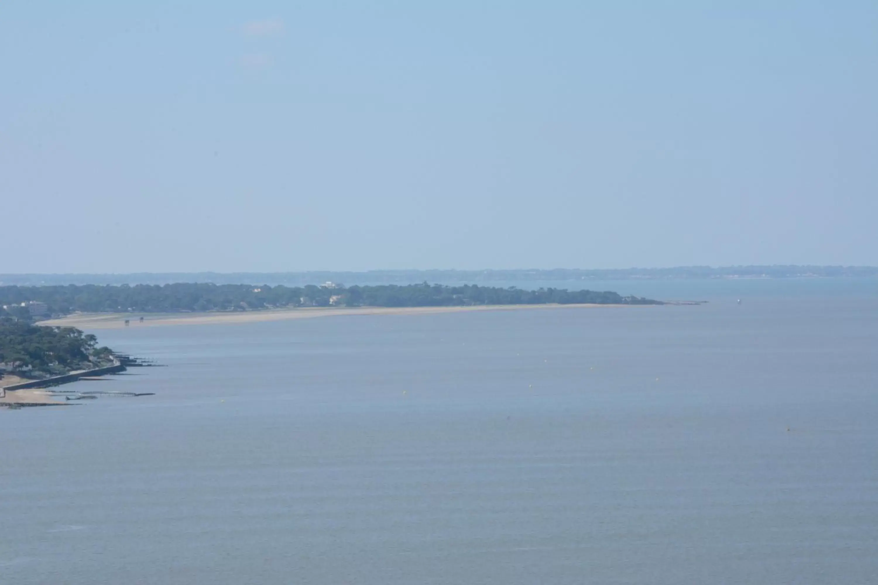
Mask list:
[[0,4],[0,273],[878,264],[878,3]]

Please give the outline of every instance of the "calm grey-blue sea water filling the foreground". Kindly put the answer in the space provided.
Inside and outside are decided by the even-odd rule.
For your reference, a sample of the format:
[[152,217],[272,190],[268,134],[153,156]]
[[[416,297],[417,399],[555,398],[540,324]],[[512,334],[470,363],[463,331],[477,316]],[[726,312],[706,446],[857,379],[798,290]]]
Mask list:
[[754,290],[98,332],[169,367],[0,411],[0,582],[875,582],[878,298]]

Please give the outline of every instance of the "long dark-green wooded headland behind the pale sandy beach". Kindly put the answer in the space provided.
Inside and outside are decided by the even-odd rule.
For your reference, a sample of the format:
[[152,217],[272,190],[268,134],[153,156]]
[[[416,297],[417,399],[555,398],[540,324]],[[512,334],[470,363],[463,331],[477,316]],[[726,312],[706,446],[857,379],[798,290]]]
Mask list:
[[180,282],[165,285],[0,287],[0,316],[60,317],[75,312],[238,311],[284,307],[464,307],[513,304],[663,304],[611,291],[394,284],[304,287]]

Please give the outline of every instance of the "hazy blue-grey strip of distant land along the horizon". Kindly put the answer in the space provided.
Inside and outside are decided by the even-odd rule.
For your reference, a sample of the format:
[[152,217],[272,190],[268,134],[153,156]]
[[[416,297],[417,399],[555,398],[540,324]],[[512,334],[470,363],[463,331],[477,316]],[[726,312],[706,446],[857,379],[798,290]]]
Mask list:
[[514,270],[370,270],[306,272],[171,272],[131,274],[18,274],[0,275],[0,286],[39,286],[67,284],[169,284],[172,282],[212,282],[213,284],[259,283],[275,286],[305,286],[324,282],[353,284],[438,284],[490,282],[553,282],[613,280],[673,280],[712,278],[838,278],[878,277],[878,268],[869,266],[729,266],[712,268],[554,268]]

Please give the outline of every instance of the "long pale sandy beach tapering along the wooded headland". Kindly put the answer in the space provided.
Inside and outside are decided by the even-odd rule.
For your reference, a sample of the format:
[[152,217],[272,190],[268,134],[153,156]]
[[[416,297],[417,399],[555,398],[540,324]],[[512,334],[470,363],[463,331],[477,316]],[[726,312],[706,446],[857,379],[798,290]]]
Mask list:
[[[630,304],[507,304],[478,305],[470,307],[356,307],[324,308],[306,307],[296,309],[270,309],[204,313],[79,313],[40,321],[39,325],[78,327],[80,329],[119,329],[125,320],[132,327],[155,327],[160,325],[230,325],[236,323],[256,323],[261,321],[284,321],[287,319],[306,319],[314,317],[341,317],[345,315],[426,315],[474,310],[554,310],[554,309],[594,309],[619,307],[651,307],[657,305]],[[143,323],[140,323],[143,317]]]

